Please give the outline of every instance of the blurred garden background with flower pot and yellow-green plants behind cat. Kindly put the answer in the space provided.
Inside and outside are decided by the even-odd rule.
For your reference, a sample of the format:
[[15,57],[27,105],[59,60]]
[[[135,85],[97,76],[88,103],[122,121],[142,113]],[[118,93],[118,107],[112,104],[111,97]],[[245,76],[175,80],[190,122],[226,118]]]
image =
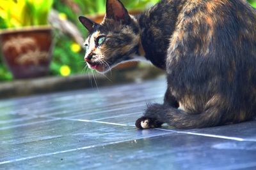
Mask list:
[[[121,1],[131,13],[138,14],[159,0]],[[248,2],[256,7],[256,0]],[[65,81],[60,81],[65,83],[69,76],[102,76],[84,67],[83,41],[87,31],[77,17],[85,15],[100,22],[104,17],[105,4],[106,0],[0,0],[0,84],[5,82],[4,88],[8,91],[7,86],[12,85],[12,82],[34,81],[38,77],[43,82],[46,81],[42,80],[45,76],[64,77]],[[143,70],[144,67],[150,66],[134,62],[116,69],[117,72],[129,69],[134,71],[134,68]],[[102,81],[121,78],[117,73],[115,75],[116,69],[113,70],[114,75],[106,74],[107,77]],[[150,68],[140,76],[145,78],[154,73],[162,72]],[[134,75],[138,74],[130,74],[130,78],[134,79]],[[79,78],[81,81],[88,79]],[[97,83],[92,82],[92,78],[88,80],[91,85]],[[0,86],[0,97],[3,94],[6,96],[8,92],[1,93]]]

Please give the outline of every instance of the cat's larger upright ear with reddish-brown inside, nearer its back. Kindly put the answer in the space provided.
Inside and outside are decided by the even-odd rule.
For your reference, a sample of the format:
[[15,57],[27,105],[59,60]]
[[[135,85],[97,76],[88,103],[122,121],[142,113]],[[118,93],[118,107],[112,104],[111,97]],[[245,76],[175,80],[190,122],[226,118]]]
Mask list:
[[131,20],[128,11],[119,0],[107,0],[106,18],[112,18],[116,21],[122,21],[128,24]]

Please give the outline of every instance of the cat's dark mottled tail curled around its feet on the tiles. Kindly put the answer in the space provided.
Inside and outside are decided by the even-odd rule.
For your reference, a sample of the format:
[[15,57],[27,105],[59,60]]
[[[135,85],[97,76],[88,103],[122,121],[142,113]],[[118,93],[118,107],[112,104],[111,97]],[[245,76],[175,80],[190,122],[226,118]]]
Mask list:
[[[166,104],[152,104],[148,106],[145,117],[155,122],[163,122],[181,129],[203,128],[219,125],[223,111],[216,106],[211,106],[202,113],[192,115]],[[138,126],[137,126],[138,127]],[[142,126],[138,127],[140,129]]]

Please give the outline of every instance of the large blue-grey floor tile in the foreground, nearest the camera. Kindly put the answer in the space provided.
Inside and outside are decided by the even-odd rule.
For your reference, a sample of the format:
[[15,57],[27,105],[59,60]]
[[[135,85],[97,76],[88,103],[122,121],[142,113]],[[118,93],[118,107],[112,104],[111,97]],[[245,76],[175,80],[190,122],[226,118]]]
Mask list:
[[255,169],[255,152],[256,143],[252,142],[169,134],[13,160],[1,166],[8,169]]

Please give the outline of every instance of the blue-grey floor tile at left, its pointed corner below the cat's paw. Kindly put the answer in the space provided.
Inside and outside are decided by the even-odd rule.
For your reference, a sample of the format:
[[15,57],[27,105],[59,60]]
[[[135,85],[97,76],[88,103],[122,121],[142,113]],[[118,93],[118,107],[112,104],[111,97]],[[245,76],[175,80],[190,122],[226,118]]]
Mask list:
[[71,120],[42,122],[0,131],[0,162],[167,133],[172,132]]

